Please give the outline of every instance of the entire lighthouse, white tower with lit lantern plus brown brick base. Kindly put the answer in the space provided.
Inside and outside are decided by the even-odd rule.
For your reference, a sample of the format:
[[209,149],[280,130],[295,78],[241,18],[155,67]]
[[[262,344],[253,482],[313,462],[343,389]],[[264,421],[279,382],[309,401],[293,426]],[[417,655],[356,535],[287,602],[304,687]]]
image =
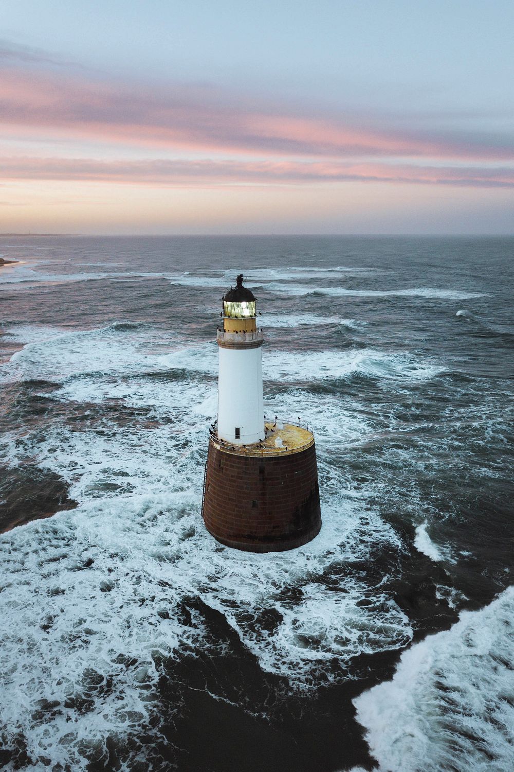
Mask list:
[[257,301],[236,279],[222,298],[218,415],[203,480],[207,530],[227,547],[291,550],[321,528],[314,435],[301,419],[264,415]]

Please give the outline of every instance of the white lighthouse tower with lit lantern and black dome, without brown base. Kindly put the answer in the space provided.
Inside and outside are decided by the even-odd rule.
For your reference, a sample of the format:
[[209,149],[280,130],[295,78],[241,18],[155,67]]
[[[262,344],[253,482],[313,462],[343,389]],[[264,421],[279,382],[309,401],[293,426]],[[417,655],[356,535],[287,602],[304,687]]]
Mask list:
[[262,330],[257,330],[255,297],[243,286],[223,296],[223,330],[218,330],[218,437],[233,445],[265,438],[262,391]]

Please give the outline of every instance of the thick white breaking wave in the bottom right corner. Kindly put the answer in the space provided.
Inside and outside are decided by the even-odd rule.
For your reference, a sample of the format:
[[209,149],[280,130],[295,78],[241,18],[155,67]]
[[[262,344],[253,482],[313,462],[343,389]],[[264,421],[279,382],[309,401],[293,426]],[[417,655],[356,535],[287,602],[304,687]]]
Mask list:
[[380,772],[510,772],[514,587],[403,655],[354,699]]

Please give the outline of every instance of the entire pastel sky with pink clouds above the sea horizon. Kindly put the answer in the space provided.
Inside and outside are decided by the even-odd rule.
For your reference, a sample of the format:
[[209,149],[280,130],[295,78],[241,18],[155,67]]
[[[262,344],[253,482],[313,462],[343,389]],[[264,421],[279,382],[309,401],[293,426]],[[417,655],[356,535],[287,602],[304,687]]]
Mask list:
[[512,0],[2,0],[0,232],[514,233]]

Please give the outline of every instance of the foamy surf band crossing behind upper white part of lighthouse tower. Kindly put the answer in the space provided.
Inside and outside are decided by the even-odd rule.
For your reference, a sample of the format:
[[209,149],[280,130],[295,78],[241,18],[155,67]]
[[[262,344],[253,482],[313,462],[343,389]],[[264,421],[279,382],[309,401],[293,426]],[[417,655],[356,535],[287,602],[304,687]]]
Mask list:
[[[123,333],[123,334],[122,334]],[[176,335],[138,326],[119,330],[119,325],[97,330],[62,332],[50,328],[24,328],[16,333],[34,342],[25,344],[2,367],[3,378],[62,381],[92,374],[136,374],[187,371],[217,375],[217,347],[209,340],[200,345],[180,344]],[[169,353],[163,353],[163,347]],[[322,381],[362,374],[370,378],[433,378],[443,368],[411,354],[388,354],[373,349],[305,352],[270,350],[263,357],[267,381]]]

